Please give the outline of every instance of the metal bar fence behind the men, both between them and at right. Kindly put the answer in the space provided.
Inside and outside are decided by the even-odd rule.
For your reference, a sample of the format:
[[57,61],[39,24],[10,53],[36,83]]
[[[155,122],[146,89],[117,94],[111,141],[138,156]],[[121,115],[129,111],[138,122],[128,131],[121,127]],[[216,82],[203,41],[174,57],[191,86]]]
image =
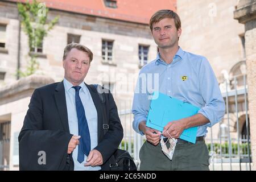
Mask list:
[[[208,128],[205,141],[210,155],[210,170],[251,170],[250,126],[246,75],[226,80],[222,86],[226,104],[224,119]],[[131,106],[131,104],[128,104]],[[146,139],[132,128],[133,114],[130,109],[119,108],[124,128],[119,148],[130,152],[139,166],[139,150]]]

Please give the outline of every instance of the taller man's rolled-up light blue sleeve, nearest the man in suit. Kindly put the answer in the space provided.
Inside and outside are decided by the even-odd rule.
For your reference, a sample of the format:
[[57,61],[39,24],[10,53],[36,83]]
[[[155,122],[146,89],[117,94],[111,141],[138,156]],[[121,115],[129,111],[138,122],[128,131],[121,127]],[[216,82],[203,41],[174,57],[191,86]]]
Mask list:
[[146,89],[143,89],[143,83],[141,79],[141,73],[139,74],[137,84],[135,87],[134,97],[133,97],[133,107],[132,113],[134,115],[133,129],[143,135],[142,131],[139,130],[139,123],[142,121],[147,121],[148,108],[150,106],[150,99],[148,99],[148,94]]

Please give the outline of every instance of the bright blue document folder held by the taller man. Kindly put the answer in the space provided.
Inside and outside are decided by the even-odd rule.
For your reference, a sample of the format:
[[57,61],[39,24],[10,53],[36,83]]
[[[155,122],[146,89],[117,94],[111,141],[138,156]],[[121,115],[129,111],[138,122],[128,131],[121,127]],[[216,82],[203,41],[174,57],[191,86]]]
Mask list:
[[[151,100],[146,126],[159,131],[163,131],[163,127],[166,126],[168,122],[191,117],[197,114],[200,109],[199,107],[160,92],[154,92],[153,98],[154,97],[156,99]],[[197,127],[185,129],[180,135],[180,139],[196,143],[196,133]]]

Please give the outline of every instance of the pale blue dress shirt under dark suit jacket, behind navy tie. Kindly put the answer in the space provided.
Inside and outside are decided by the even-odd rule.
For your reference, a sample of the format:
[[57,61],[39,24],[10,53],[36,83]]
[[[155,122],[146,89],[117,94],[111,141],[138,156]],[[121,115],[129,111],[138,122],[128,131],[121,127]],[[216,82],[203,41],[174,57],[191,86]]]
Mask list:
[[[72,88],[72,84],[64,78],[63,80],[64,88],[65,88],[65,96],[67,102],[67,110],[68,110],[68,125],[69,132],[73,135],[78,135],[78,120],[76,114],[76,101],[75,101],[75,89]],[[79,86],[81,89],[79,90],[79,96],[82,101],[82,105],[84,106],[86,119],[88,122],[88,127],[90,131],[90,146],[91,150],[98,145],[98,117],[97,110],[94,106],[92,96],[90,96],[90,92],[84,82],[82,82]],[[72,158],[74,160],[74,170],[75,171],[98,171],[101,169],[100,166],[96,167],[85,167],[87,156],[84,155],[84,162],[81,164],[77,161],[78,155],[78,146],[75,148],[72,154]]]

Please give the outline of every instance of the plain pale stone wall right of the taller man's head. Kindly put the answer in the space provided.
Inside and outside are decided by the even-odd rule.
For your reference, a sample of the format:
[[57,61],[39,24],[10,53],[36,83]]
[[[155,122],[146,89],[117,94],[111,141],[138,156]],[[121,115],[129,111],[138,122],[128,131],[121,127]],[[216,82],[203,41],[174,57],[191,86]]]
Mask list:
[[[246,74],[245,33],[243,24],[233,18],[237,0],[179,0],[177,13],[181,18],[183,32],[180,46],[185,50],[207,57],[220,83],[222,96],[226,101],[226,90],[229,92],[229,130],[232,138],[237,138],[237,120],[240,135],[245,135],[245,99],[243,75]],[[236,85],[234,84],[236,77]],[[225,81],[228,88],[226,89]],[[237,86],[237,111],[235,100]],[[247,88],[247,86],[246,86]],[[228,126],[228,115],[225,114],[222,126]],[[209,130],[210,131],[210,130]],[[220,137],[220,127],[213,127],[213,137]],[[225,129],[224,129],[225,131]],[[208,137],[210,134],[208,134]]]

